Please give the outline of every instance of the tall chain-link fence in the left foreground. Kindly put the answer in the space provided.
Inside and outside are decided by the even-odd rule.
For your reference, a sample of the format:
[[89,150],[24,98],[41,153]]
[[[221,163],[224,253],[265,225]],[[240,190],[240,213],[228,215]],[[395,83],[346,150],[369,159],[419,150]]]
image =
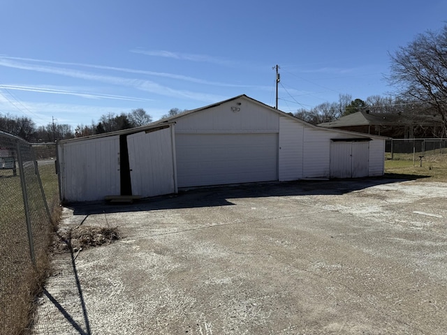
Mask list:
[[31,144],[0,132],[0,334],[26,334],[52,220]]

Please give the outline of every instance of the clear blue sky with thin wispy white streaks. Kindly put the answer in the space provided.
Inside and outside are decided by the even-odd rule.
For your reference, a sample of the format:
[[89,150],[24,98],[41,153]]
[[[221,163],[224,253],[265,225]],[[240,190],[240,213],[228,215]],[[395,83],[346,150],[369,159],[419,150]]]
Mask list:
[[386,96],[394,52],[445,0],[0,1],[0,113],[37,126],[144,108],[154,120],[247,94],[295,112]]

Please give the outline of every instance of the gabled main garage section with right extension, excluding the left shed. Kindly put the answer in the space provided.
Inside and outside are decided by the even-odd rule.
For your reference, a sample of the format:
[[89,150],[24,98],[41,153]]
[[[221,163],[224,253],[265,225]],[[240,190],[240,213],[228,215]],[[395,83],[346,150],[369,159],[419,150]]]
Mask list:
[[[386,137],[314,126],[245,95],[168,121],[179,187],[383,174]],[[356,148],[349,169],[343,145]]]

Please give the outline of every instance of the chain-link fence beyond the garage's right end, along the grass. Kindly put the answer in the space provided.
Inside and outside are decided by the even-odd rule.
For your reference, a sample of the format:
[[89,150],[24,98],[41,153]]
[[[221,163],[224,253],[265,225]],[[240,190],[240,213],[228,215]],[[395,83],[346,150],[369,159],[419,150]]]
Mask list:
[[393,139],[386,141],[387,159],[407,159],[419,161],[429,156],[447,154],[447,138]]

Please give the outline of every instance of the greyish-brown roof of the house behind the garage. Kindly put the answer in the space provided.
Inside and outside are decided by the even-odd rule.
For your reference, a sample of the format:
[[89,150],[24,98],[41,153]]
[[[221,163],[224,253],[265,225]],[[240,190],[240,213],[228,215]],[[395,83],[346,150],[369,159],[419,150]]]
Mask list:
[[360,111],[340,117],[338,120],[324,122],[318,126],[325,128],[349,126],[441,126],[441,120],[426,114],[371,113]]

